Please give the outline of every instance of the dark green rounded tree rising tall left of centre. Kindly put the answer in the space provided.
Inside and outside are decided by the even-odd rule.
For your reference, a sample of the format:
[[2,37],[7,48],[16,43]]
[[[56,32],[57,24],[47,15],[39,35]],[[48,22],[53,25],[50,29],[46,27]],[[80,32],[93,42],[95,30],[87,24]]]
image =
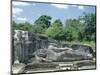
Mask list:
[[51,25],[51,17],[47,15],[40,16],[34,23],[35,33],[44,33],[45,30]]

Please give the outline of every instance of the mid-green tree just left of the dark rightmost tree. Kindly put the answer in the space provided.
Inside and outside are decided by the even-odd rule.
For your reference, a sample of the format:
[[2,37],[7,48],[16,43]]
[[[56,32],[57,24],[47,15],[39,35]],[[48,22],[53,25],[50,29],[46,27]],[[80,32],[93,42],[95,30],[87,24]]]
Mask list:
[[82,25],[78,19],[66,20],[67,41],[79,40],[79,34],[82,32]]

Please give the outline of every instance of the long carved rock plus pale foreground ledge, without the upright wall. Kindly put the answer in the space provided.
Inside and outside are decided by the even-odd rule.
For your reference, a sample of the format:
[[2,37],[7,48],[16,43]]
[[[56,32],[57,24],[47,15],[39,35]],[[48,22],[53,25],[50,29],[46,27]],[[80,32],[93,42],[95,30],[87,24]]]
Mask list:
[[92,48],[86,45],[69,45],[63,48],[50,46],[48,49],[36,50],[28,64],[19,64],[20,67],[13,65],[12,69],[13,73],[95,69],[96,62],[92,53]]

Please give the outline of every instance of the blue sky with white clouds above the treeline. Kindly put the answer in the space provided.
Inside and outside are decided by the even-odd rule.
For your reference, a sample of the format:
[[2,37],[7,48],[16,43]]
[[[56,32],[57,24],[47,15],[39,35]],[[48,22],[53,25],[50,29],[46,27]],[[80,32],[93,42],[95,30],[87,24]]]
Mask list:
[[60,19],[65,23],[66,19],[78,18],[86,13],[95,13],[94,6],[83,5],[64,5],[64,4],[47,4],[33,2],[12,2],[12,19],[17,23],[29,22],[34,24],[34,21],[41,15],[52,17],[52,22]]

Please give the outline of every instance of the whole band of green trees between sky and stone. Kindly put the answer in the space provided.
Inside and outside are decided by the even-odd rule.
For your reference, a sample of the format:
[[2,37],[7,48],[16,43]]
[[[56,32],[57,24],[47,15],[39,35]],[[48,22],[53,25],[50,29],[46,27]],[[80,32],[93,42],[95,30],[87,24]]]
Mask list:
[[34,25],[28,22],[16,23],[12,21],[12,29],[25,30],[47,35],[58,41],[93,41],[96,39],[96,14],[84,13],[77,19],[67,19],[65,25],[60,19],[51,24],[51,17],[40,16]]

